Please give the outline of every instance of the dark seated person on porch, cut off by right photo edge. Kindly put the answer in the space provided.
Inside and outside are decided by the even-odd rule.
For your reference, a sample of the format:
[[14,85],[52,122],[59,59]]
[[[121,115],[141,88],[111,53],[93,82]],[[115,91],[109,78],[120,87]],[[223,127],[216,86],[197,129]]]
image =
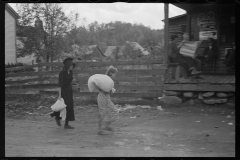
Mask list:
[[235,68],[235,49],[236,49],[235,42],[232,45],[233,48],[231,50],[228,50],[228,53],[226,54],[225,57],[228,72]]

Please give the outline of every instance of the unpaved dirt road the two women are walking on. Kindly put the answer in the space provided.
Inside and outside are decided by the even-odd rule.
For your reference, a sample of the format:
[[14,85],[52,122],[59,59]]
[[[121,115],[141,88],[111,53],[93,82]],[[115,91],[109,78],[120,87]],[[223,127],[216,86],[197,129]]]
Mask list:
[[104,136],[96,134],[96,106],[75,107],[74,130],[58,127],[40,110],[24,119],[6,117],[6,157],[235,156],[235,114],[229,106],[128,109],[114,124],[120,131]]

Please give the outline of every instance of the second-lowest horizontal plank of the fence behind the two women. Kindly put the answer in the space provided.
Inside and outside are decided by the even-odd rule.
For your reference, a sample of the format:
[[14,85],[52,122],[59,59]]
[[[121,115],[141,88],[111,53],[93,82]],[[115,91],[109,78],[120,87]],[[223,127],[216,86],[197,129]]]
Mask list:
[[[56,83],[49,83],[49,84],[29,84],[29,85],[15,85],[15,86],[6,86],[7,89],[29,89],[29,88],[57,88],[58,84]],[[88,86],[86,84],[80,84],[79,88],[88,90]],[[148,91],[148,90],[158,90],[162,91],[163,86],[162,85],[137,85],[137,84],[131,84],[131,85],[114,85],[114,88],[116,90],[125,90],[125,91]]]

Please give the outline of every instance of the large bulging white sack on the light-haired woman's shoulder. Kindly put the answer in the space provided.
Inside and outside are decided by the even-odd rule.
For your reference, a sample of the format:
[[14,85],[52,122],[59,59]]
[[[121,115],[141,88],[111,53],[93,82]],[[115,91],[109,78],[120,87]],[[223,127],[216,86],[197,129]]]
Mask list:
[[96,86],[105,92],[110,92],[114,87],[112,78],[104,74],[94,74],[88,79],[88,89],[90,92],[96,92]]

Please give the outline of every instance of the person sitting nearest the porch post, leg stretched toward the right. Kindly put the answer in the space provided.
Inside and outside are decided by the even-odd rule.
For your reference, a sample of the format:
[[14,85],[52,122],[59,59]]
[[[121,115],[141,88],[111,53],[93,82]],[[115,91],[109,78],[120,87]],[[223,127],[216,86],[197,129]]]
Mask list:
[[171,36],[171,42],[168,45],[168,62],[182,64],[186,71],[191,71],[192,75],[200,73],[200,71],[197,71],[197,69],[200,69],[197,67],[198,62],[195,62],[191,57],[185,57],[179,53],[185,41],[182,41],[180,45],[177,46],[177,38],[177,35]]

